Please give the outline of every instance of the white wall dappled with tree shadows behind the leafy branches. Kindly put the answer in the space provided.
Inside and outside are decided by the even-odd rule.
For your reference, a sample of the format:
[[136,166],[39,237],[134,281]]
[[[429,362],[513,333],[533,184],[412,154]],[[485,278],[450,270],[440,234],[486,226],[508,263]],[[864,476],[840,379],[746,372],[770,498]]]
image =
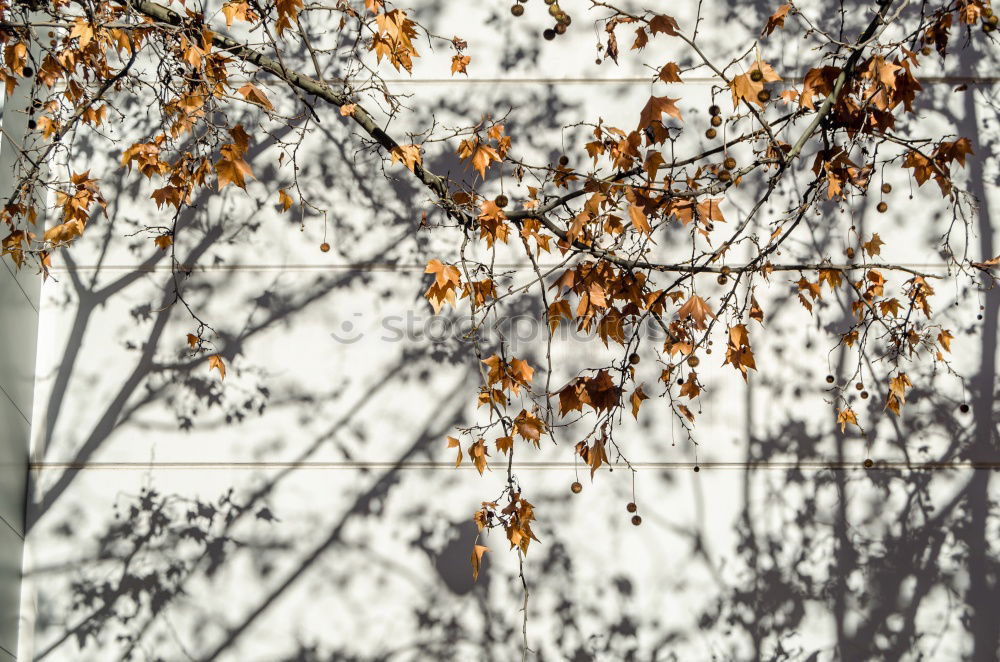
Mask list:
[[[466,37],[474,59],[468,80],[441,80],[442,67],[425,66],[398,84],[415,95],[421,120],[510,103],[518,149],[551,157],[557,134],[536,127],[597,116],[628,125],[650,93],[637,66],[593,63],[582,8],[572,36],[550,45],[535,38],[540,3],[515,24],[502,3],[440,6],[436,31]],[[742,43],[773,9],[740,7],[706,9],[713,49]],[[682,25],[689,18],[678,15]],[[771,61],[803,67],[805,47],[782,39],[768,46]],[[992,75],[986,59],[953,61],[952,73]],[[969,172],[985,220],[973,247],[1000,253],[990,225],[1000,202],[996,80],[964,94],[947,77],[926,85],[944,108],[924,113],[927,130],[958,123],[976,139]],[[709,90],[707,80],[679,90],[690,122],[705,123]],[[474,359],[453,338],[389,341],[382,330],[413,311],[429,317],[423,265],[454,255],[454,238],[414,231],[428,208],[423,192],[403,175],[387,187],[369,157],[355,158],[357,139],[338,120],[334,112],[316,130],[301,173],[334,210],[327,234],[317,218],[300,231],[277,213],[275,182],[287,174],[267,145],[253,155],[265,183],[251,185],[250,201],[229,190],[185,218],[179,254],[198,265],[185,293],[228,338],[224,383],[183,351],[195,324],[179,306],[165,308],[163,254],[148,238],[122,239],[153,213],[134,179],[110,198],[109,219],[57,259],[42,291],[23,659],[116,660],[132,648],[122,637],[138,638],[143,660],[520,659],[517,560],[500,536],[487,541],[478,584],[469,576],[471,514],[499,491],[502,472],[455,470],[444,444],[475,416]],[[897,237],[887,260],[943,268],[923,218],[940,210],[937,194],[916,189],[910,199],[905,178],[891,177],[892,213],[875,214],[873,201],[856,223]],[[814,236],[840,250],[821,220]],[[318,250],[324,239],[330,253]],[[574,497],[571,444],[521,452],[517,474],[540,520],[526,566],[537,658],[784,659],[780,645],[789,659],[829,659],[838,637],[889,646],[909,624],[927,636],[906,659],[969,654],[962,604],[987,584],[963,545],[978,535],[995,560],[995,520],[987,528],[977,508],[995,508],[996,479],[898,468],[951,459],[953,443],[963,460],[1000,460],[991,436],[997,294],[942,290],[938,305],[959,336],[956,368],[970,381],[925,376],[898,422],[881,416],[878,398],[858,401],[871,421],[862,438],[833,434],[823,402],[827,362],[839,374],[844,358],[826,354],[830,335],[798,304],[775,301],[787,291],[776,286],[766,308],[780,335],[761,335],[762,370],[749,386],[709,375],[697,449],[655,401],[643,425],[624,426],[640,527],[625,511],[633,480],[624,467],[584,480]],[[360,338],[338,342],[334,332]],[[557,347],[571,365],[600,351]],[[973,413],[958,414],[966,399]],[[897,468],[866,472],[868,457]],[[926,505],[943,513],[940,544],[920,537],[935,527],[911,513],[921,481]],[[166,526],[145,537],[154,515]],[[973,525],[959,530],[958,521]],[[113,608],[102,608],[108,595]],[[909,595],[920,597],[912,613]]]

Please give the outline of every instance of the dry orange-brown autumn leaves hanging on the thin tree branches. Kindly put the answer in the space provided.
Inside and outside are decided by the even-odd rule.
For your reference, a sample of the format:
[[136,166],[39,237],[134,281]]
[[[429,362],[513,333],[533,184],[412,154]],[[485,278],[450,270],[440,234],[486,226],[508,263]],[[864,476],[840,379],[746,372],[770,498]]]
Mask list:
[[[865,25],[855,38],[832,36],[789,3],[767,20],[753,48],[728,61],[705,53],[696,26],[681,25],[662,11],[591,4],[605,35],[599,47],[605,59],[617,63],[626,57],[619,32],[634,30],[628,53],[640,61],[654,59],[653,82],[677,85],[694,73],[714,77],[713,101],[724,99],[731,109],[724,112],[714,102],[708,109],[707,146],[679,155],[691,142],[682,112],[686,101],[655,95],[635,109],[633,126],[609,126],[601,118],[581,123],[590,135],[576,146],[587,155],[579,166],[571,166],[568,155],[531,162],[519,153],[517,136],[491,117],[446,135],[431,127],[397,140],[366,108],[378,104],[390,113],[402,108],[382,84],[380,66],[412,72],[420,57],[419,37],[454,52],[453,75],[467,73],[472,58],[465,55],[464,40],[437,36],[419,17],[382,0],[366,0],[363,7],[346,0],[322,6],[301,0],[218,6],[0,2],[0,78],[8,93],[27,91],[32,138],[18,163],[18,185],[0,208],[7,229],[3,253],[18,265],[31,262],[45,271],[53,248],[85,234],[87,219],[104,204],[99,178],[87,171],[61,180],[44,164],[72,163],[77,134],[101,130],[120,112],[110,100],[114,95],[148,99],[158,118],[157,132],[122,146],[120,165],[156,186],[151,199],[170,220],[149,229],[155,246],[165,251],[173,250],[177,219],[196,192],[229,185],[246,189],[253,177],[248,152],[257,132],[226,119],[233,115],[227,111],[249,107],[288,128],[294,139],[275,139],[278,165],[297,173],[297,146],[328,107],[367,136],[387,166],[400,164],[426,187],[437,213],[421,225],[463,239],[459,254],[428,261],[433,282],[426,298],[435,312],[468,299],[472,351],[482,375],[478,404],[486,413],[448,443],[458,449],[459,463],[466,454],[480,473],[492,449],[506,459],[506,488],[484,504],[476,521],[480,529],[502,527],[521,554],[536,538],[530,527],[534,509],[513,474],[516,440],[538,447],[543,438],[556,441],[560,429],[574,430],[573,452],[594,476],[611,456],[627,462],[614,437],[622,412],[628,408],[638,418],[643,403],[656,397],[694,441],[699,407],[693,403],[705,390],[698,368],[708,362],[713,338],[726,348],[721,365],[750,379],[763,367],[754,338],[767,332],[767,313],[756,292],[775,281],[787,284],[785,274],[810,314],[824,295],[847,300],[853,319],[834,342],[855,353],[856,374],[863,366],[880,366],[867,381],[884,385],[884,409],[899,414],[913,386],[907,363],[948,365],[953,335],[933,317],[930,280],[939,275],[884,262],[879,234],[866,238],[854,226],[846,232],[846,262],[829,255],[781,262],[778,256],[790,238],[808,228],[807,217],[821,205],[844,209],[878,190],[888,194],[891,187],[879,180],[892,169],[909,173],[918,186],[933,179],[954,225],[968,222],[971,201],[953,169],[966,164],[969,141],[923,136],[919,123],[910,120],[923,93],[921,67],[945,58],[954,26],[985,27],[993,16],[989,3],[951,0],[908,8],[881,0],[866,6]],[[322,35],[322,43],[310,17],[324,29],[336,25]],[[787,72],[783,76],[762,54],[767,39],[792,29],[815,42],[815,66],[801,81]],[[655,60],[658,49],[651,45],[668,41],[685,53],[684,66]],[[312,73],[306,73],[309,67]],[[468,166],[468,176],[446,177],[428,168],[425,152],[442,142]],[[769,205],[780,204],[777,192],[800,176],[808,181],[802,192],[765,218]],[[297,174],[292,177],[290,185],[275,191],[278,208],[325,214],[303,193]],[[512,201],[503,192],[511,189],[523,189],[522,199]],[[56,192],[52,209],[40,206],[40,190]],[[733,222],[728,208],[747,191],[753,204]],[[883,205],[879,211],[885,211]],[[41,237],[32,232],[39,218],[53,213],[58,225]],[[670,253],[671,245],[680,252]],[[978,277],[997,262],[990,256],[974,262],[967,247],[955,250],[950,231],[942,251],[951,278]],[[744,254],[750,257],[734,257]],[[498,255],[530,265],[527,277],[500,273]],[[543,255],[557,266],[543,267]],[[172,264],[179,267],[176,259]],[[722,289],[713,296],[709,292],[716,285]],[[543,366],[510,356],[502,340],[495,351],[485,349],[479,330],[503,316],[505,302],[525,295],[543,304],[549,350],[555,331],[573,325],[614,348],[617,358],[554,386],[559,366],[552,365],[551,351]],[[214,329],[187,306],[180,285],[176,300],[196,324],[187,337],[191,351],[209,355],[209,369],[224,377]],[[646,323],[662,330],[662,345],[644,344],[638,329]],[[637,370],[642,362],[657,366],[655,387],[642,383]],[[828,391],[842,430],[860,426],[845,390],[841,384]],[[577,434],[573,425],[582,422],[590,429]],[[475,548],[476,571],[484,551]]]

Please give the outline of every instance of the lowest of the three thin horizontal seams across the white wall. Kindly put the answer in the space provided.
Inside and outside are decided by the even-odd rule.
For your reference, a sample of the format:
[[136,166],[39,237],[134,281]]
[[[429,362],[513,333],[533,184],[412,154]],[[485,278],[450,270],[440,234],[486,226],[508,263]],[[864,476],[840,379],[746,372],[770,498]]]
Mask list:
[[[772,469],[788,471],[791,469],[802,470],[823,470],[835,471],[860,469],[860,470],[909,470],[909,471],[954,471],[954,470],[1000,470],[1000,461],[996,462],[946,462],[946,463],[914,463],[905,462],[876,462],[872,469],[863,465],[863,460],[856,462],[839,461],[776,461],[776,462],[632,462],[630,465],[615,465],[619,470],[628,469],[628,466],[636,470],[662,470],[662,469],[682,469],[693,470],[695,467],[706,470],[749,470],[749,469]],[[358,470],[358,469],[382,469],[382,470],[454,470],[454,462],[377,462],[377,461],[342,461],[342,462],[31,462],[28,465],[32,471],[45,471],[60,469],[64,471],[136,471],[143,469],[157,470],[192,470],[192,471],[220,471],[226,469],[311,469],[311,470]],[[459,469],[474,470],[471,464],[463,462]],[[581,463],[574,462],[515,462],[515,471],[546,471],[553,469],[580,469],[586,467]]]

